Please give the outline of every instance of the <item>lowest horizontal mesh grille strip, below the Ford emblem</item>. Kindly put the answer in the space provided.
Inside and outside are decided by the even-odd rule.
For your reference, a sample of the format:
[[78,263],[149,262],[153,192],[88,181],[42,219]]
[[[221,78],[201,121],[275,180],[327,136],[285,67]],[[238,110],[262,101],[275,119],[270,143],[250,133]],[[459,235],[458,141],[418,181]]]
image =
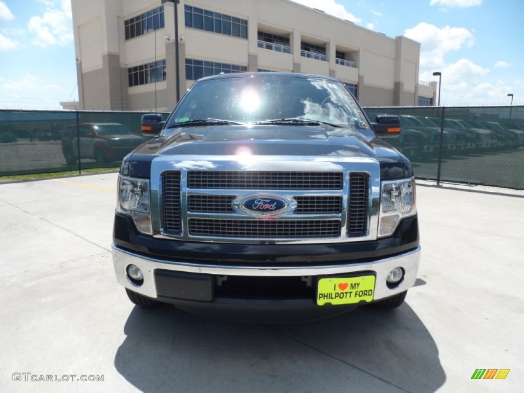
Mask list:
[[339,237],[339,220],[219,220],[189,219],[189,234],[246,239]]

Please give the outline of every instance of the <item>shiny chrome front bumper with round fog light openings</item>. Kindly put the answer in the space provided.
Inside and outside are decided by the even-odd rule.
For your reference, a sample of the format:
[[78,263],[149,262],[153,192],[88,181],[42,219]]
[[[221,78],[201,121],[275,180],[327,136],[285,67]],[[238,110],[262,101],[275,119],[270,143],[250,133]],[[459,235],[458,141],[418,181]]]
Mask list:
[[[140,293],[149,298],[157,298],[155,287],[155,269],[200,273],[215,276],[328,276],[328,275],[354,275],[358,272],[375,272],[375,295],[374,300],[380,300],[394,296],[411,288],[416,279],[420,260],[420,247],[395,257],[379,259],[369,263],[331,265],[331,266],[223,266],[223,265],[197,265],[182,263],[176,260],[160,260],[146,258],[141,255],[133,254],[112,245],[113,265],[116,278],[126,288]],[[134,264],[140,268],[144,274],[144,283],[136,286],[127,278],[126,268]],[[386,285],[386,278],[389,272],[395,267],[401,267],[406,274],[399,286],[389,289]]]

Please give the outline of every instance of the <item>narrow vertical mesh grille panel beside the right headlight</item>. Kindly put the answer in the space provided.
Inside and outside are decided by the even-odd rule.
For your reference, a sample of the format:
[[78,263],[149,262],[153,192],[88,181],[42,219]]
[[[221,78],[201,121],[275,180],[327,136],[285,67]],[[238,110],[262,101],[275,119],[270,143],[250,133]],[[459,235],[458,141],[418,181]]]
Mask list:
[[369,175],[350,173],[350,198],[347,209],[347,235],[365,236],[368,231]]

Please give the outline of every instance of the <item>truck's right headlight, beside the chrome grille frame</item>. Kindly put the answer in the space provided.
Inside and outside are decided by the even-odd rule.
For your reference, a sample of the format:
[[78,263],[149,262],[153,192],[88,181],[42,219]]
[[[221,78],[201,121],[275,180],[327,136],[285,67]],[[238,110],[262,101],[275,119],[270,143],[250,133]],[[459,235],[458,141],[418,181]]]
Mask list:
[[390,236],[400,220],[415,214],[415,179],[384,181],[380,193],[378,237]]

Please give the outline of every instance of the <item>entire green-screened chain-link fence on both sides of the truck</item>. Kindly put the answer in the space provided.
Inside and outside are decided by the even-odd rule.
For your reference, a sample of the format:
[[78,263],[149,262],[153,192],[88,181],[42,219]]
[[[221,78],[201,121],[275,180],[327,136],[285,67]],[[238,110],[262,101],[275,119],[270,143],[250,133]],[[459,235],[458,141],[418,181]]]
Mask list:
[[[368,107],[400,116],[387,139],[418,178],[524,189],[524,106]],[[139,112],[0,111],[0,176],[118,167],[147,139]],[[167,113],[163,118],[167,118]]]

